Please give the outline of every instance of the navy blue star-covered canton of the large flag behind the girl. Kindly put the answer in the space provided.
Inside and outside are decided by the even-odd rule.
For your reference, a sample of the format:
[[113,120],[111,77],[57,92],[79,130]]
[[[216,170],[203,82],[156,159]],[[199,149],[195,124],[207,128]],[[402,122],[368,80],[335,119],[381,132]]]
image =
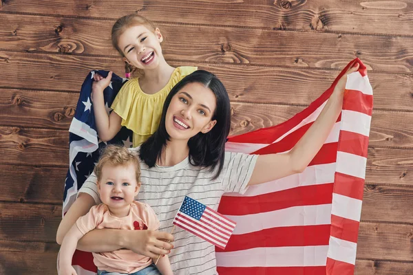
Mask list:
[[[81,93],[79,95],[78,103],[76,105],[76,112],[74,113],[74,119],[78,120],[78,122],[81,122],[83,125],[82,128],[86,129],[92,129],[90,132],[97,133],[96,131],[96,122],[94,119],[94,110],[93,110],[93,105],[92,105],[92,83],[93,83],[93,77],[94,74],[100,74],[100,76],[107,77],[107,74],[109,72],[107,71],[92,71],[90,72],[86,78],[85,81],[83,82],[83,85],[81,87]],[[109,107],[112,105],[112,102],[114,101],[116,95],[118,94],[118,91],[120,88],[126,83],[127,79],[126,78],[121,78],[119,76],[116,76],[116,74],[112,74],[112,81],[104,91],[103,91],[103,98],[105,100],[105,109],[107,113],[109,114],[112,109]],[[72,122],[73,124],[73,122]],[[72,127],[72,125],[71,125]],[[72,174],[70,173],[70,169],[67,171],[67,177],[65,180],[65,190],[64,190],[64,195],[63,195],[63,211],[65,211],[65,206],[70,206],[70,204],[73,203],[74,201],[74,196],[72,195],[71,198],[67,198],[67,191],[70,190],[70,188],[74,188],[74,183],[75,181],[77,182],[76,188],[79,190],[87,177],[93,172],[94,166],[98,162],[99,158],[99,152],[102,148],[104,148],[107,144],[123,144],[124,146],[131,147],[132,145],[132,131],[129,129],[122,127],[120,129],[119,133],[109,142],[102,142],[97,134],[95,134],[95,137],[92,137],[90,135],[85,135],[84,137],[81,137],[79,135],[76,135],[75,133],[70,132],[69,133],[69,142],[70,144],[78,144],[79,142],[85,142],[87,143],[88,141],[93,143],[92,140],[96,140],[95,142],[98,143],[98,148],[96,148],[96,151],[94,152],[82,152],[82,151],[70,151],[70,159],[73,159],[72,163],[70,164],[72,166]],[[95,145],[96,147],[96,145]],[[72,148],[72,146],[71,146]],[[72,156],[73,154],[73,156]],[[76,173],[76,178],[74,179],[72,177],[73,171]],[[77,192],[76,190],[76,192]],[[73,190],[71,190],[71,193]],[[67,208],[66,208],[67,210]]]

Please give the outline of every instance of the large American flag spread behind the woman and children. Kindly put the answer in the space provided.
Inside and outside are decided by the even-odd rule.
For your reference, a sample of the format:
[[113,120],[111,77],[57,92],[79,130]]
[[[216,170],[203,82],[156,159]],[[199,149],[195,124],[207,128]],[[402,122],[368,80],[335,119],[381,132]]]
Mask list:
[[[355,61],[360,63],[360,67],[358,72],[348,76],[343,111],[308,168],[300,174],[250,186],[244,195],[231,193],[222,197],[218,212],[235,221],[237,226],[225,250],[216,250],[220,275],[354,274],[372,114],[372,87],[366,75],[366,66],[358,58]],[[313,124],[346,69],[304,111],[277,126],[230,137],[226,149],[255,154],[290,150]],[[107,72],[100,74],[105,76]],[[85,80],[87,87],[92,85],[91,77],[92,73]],[[113,97],[123,81],[119,78],[116,81],[118,85],[112,85]],[[84,102],[87,104],[87,98],[79,99],[78,103],[83,113],[83,106],[87,107]],[[88,138],[86,145],[79,147],[83,149],[77,150],[77,155],[83,155],[83,159],[87,158],[89,151],[103,146],[96,137],[96,126],[92,127],[94,132],[88,131],[87,127],[92,123],[90,120],[82,118],[76,122],[81,125],[79,129],[85,129],[78,133],[87,133],[76,142]],[[117,142],[122,140],[128,142],[125,137]],[[64,212],[86,179],[85,175],[94,166],[90,164],[90,169],[83,173],[80,173],[80,164],[79,171],[76,169],[77,158],[72,157],[72,138],[70,152],[71,170],[65,184]],[[71,171],[78,179],[76,184],[70,177]],[[76,251],[73,265],[79,275],[95,274],[92,259],[92,254]]]

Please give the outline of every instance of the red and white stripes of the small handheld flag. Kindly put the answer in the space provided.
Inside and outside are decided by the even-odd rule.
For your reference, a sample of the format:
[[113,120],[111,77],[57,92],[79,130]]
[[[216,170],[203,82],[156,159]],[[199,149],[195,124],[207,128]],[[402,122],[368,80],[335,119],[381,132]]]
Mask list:
[[173,224],[213,243],[218,248],[224,249],[235,228],[235,222],[224,215],[215,212],[208,206],[205,208],[201,218],[193,217],[178,211],[173,219]]

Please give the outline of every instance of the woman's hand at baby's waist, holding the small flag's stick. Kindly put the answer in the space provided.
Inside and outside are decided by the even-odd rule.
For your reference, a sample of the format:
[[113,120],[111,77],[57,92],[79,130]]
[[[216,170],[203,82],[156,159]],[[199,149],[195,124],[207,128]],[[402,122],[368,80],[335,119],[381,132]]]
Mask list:
[[153,230],[131,230],[126,240],[126,248],[150,258],[158,258],[171,252],[173,236],[167,232]]

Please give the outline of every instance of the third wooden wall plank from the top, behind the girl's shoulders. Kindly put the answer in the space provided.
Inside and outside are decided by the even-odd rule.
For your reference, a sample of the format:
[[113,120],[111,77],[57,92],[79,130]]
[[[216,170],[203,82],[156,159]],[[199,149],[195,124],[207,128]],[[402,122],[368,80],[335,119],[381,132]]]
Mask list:
[[[233,102],[310,104],[328,89],[339,73],[319,69],[248,65],[172,65],[195,65],[213,72],[226,85]],[[0,51],[0,70],[3,75],[0,87],[79,91],[92,69],[112,69],[123,76],[120,58]],[[369,72],[369,78],[374,90],[374,109],[413,110],[413,75]],[[3,104],[12,104],[13,96],[15,94],[0,96],[0,100],[2,103],[5,100]]]

